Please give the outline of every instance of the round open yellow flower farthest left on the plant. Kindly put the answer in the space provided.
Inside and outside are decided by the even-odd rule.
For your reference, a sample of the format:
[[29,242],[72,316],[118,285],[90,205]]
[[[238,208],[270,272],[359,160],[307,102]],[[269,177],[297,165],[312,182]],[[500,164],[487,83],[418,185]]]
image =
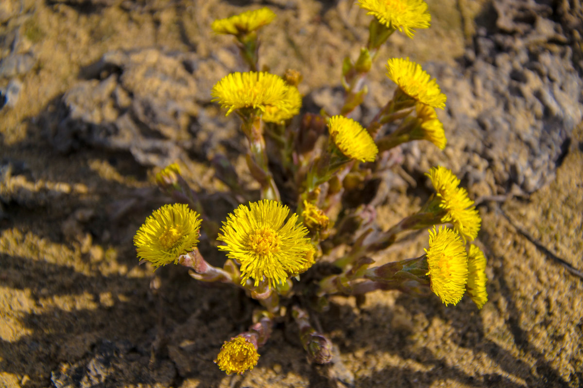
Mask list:
[[155,210],[134,236],[138,257],[160,265],[178,262],[178,256],[198,243],[201,220],[185,204],[164,205]]

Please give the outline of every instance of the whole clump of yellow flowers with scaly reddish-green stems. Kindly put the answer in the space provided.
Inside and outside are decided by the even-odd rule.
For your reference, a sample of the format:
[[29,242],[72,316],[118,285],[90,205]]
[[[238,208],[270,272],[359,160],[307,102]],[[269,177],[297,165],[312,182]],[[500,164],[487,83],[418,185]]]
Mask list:
[[[349,117],[367,94],[364,81],[381,45],[396,30],[413,38],[415,29],[428,28],[431,20],[423,0],[359,3],[374,17],[358,58],[343,62],[345,101],[336,115],[322,111],[296,118],[302,104],[300,73],[258,72],[258,30],[271,23],[275,13],[262,8],[213,22],[215,33],[233,35],[250,69],[227,74],[211,94],[226,115],[235,113],[240,119],[248,140],[248,169],[261,187],[261,198],[239,205],[219,226],[205,216],[177,164],[156,175],[157,184],[177,203],[154,211],[136,233],[142,262],[154,268],[185,266],[195,279],[239,287],[261,305],[248,330],[225,341],[217,355],[216,364],[227,374],[253,369],[274,323],[286,320],[297,325],[310,361],[330,362],[332,343],[312,326],[309,313],[325,310],[332,295],[433,291],[445,305],[455,305],[467,290],[478,308],[487,301],[486,258],[469,243],[481,219],[451,170],[431,168],[426,175],[434,194],[419,211],[388,230],[375,227],[374,208],[350,207],[343,200],[392,168],[390,149],[415,140],[443,149],[447,142],[435,111],[445,107],[446,97],[437,81],[408,58],[387,60],[387,77],[396,88],[373,120],[363,125]],[[240,192],[233,170],[221,162],[217,178],[233,194]],[[201,227],[209,240],[217,236],[218,249],[226,254],[222,267],[210,265],[197,248]],[[416,229],[429,229],[424,254],[383,265],[375,262],[373,257],[399,234]],[[324,263],[327,272],[318,271]],[[308,271],[311,275],[304,275]]]

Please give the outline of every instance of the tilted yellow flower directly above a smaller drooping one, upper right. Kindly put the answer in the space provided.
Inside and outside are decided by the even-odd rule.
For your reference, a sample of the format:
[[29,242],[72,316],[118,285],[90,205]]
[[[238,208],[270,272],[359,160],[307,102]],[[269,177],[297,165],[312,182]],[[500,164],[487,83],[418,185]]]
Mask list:
[[433,108],[445,108],[445,94],[435,79],[431,79],[420,65],[409,58],[391,58],[387,62],[389,77],[409,97]]

